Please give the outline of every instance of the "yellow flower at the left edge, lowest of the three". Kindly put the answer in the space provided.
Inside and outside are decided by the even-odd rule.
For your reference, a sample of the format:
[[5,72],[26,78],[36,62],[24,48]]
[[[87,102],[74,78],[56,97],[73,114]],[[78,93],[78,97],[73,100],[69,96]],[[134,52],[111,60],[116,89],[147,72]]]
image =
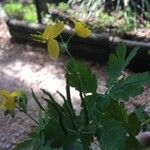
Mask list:
[[0,91],[0,109],[14,110],[16,108],[15,98],[20,92]]

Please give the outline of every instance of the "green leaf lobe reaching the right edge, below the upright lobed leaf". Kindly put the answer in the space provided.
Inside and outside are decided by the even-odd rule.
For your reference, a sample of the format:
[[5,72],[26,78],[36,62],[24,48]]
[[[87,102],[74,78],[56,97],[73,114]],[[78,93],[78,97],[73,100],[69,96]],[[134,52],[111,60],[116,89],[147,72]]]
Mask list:
[[150,73],[131,75],[118,81],[111,89],[110,96],[113,99],[128,100],[144,91],[144,85],[150,84]]

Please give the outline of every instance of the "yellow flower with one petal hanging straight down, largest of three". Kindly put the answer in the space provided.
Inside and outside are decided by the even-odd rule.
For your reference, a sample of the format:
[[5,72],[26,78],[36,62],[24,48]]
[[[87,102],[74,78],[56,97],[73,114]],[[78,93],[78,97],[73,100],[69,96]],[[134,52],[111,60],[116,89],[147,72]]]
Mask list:
[[47,43],[47,49],[50,58],[57,59],[59,56],[59,45],[55,38],[64,30],[64,23],[58,22],[55,25],[47,25],[44,32],[39,35],[32,35],[34,40],[42,43]]

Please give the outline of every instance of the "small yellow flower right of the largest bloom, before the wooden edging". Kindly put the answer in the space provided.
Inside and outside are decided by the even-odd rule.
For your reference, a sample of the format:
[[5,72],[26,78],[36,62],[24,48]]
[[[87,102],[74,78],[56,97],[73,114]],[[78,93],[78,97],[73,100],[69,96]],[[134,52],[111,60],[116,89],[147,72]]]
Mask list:
[[84,22],[72,20],[75,24],[75,32],[82,38],[87,38],[91,34],[91,30],[87,28]]

